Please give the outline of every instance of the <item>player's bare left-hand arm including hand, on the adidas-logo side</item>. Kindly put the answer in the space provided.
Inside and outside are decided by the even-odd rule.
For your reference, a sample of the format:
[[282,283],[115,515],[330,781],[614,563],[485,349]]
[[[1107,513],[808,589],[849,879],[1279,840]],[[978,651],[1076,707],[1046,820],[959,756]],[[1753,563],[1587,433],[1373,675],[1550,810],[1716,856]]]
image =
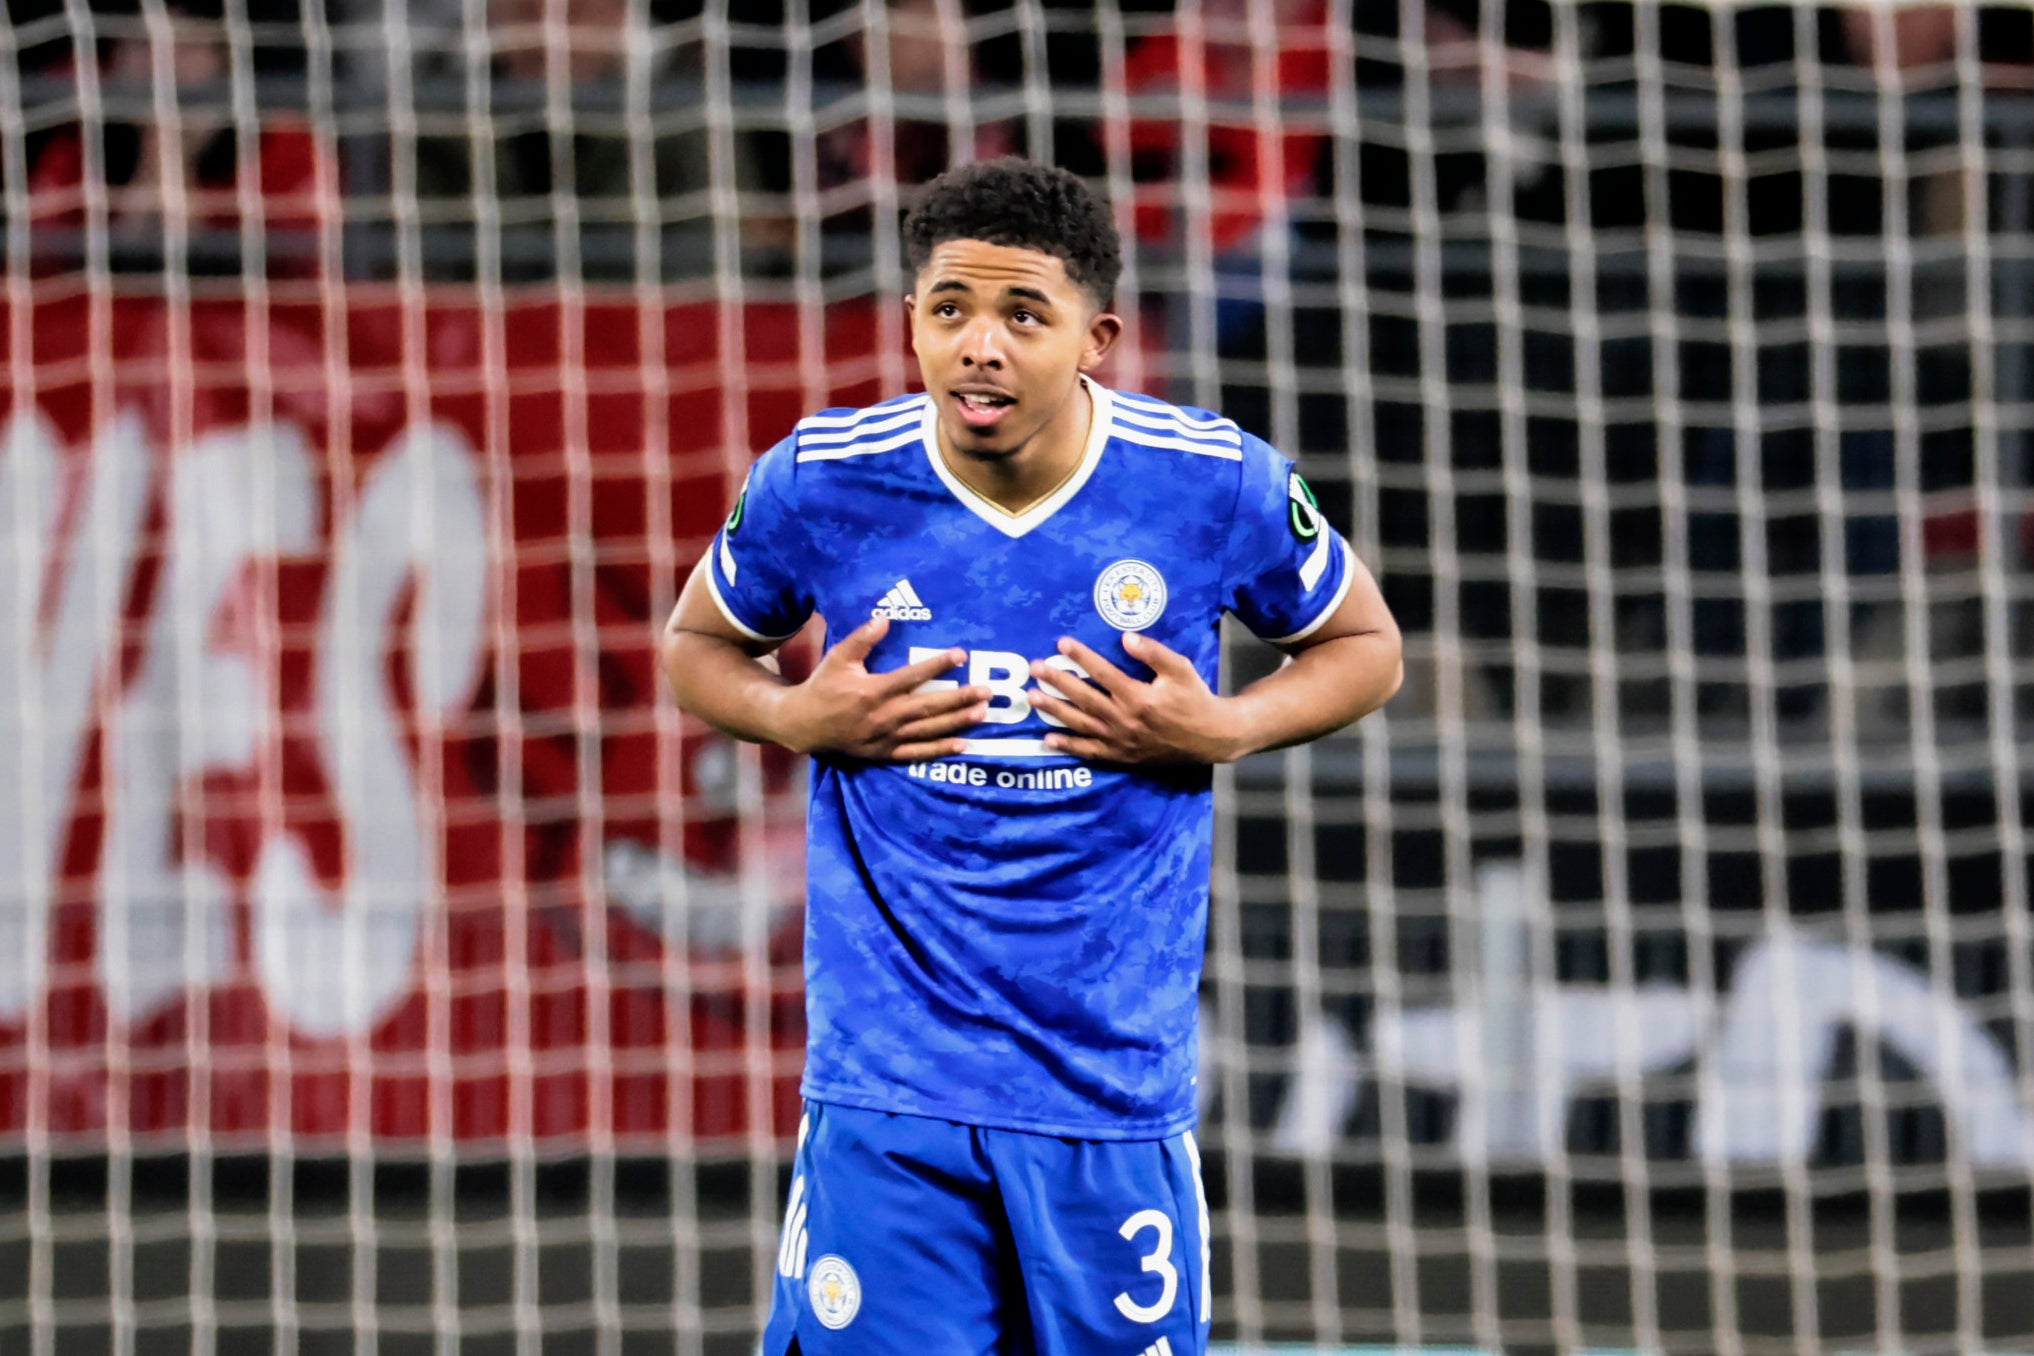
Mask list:
[[785,681],[765,659],[783,644],[744,634],[714,602],[700,561],[663,628],[661,657],[677,705],[722,734],[795,752],[917,762],[958,754],[954,738],[986,712],[989,691],[915,691],[966,663],[944,651],[889,673],[871,673],[869,653],[889,630],[873,618],[834,644],[803,683]]

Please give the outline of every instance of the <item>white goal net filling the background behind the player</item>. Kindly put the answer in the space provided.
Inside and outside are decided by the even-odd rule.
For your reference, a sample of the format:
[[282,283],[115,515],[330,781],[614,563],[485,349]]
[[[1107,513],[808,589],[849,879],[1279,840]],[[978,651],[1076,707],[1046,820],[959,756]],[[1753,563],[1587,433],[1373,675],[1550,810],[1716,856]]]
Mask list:
[[655,628],[1001,152],[1408,636],[1218,779],[1216,1340],[2034,1350],[2030,10],[10,20],[0,1350],[753,1350],[803,773]]

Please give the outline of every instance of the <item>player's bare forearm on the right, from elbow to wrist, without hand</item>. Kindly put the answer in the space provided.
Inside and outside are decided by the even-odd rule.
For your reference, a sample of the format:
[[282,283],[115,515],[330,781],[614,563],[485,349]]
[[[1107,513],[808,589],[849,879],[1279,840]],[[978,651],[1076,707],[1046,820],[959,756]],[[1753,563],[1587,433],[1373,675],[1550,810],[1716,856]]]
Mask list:
[[1229,699],[1233,756],[1304,744],[1363,720],[1391,699],[1403,675],[1395,628],[1304,649]]

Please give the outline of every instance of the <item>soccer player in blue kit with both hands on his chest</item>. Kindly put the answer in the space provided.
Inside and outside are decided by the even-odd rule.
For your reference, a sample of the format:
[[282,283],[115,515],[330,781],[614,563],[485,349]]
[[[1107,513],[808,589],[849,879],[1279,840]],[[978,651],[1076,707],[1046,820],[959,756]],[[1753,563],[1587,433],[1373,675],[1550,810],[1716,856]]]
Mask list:
[[[1080,179],[948,171],[905,242],[923,394],[771,447],[663,638],[685,710],[812,754],[763,1352],[1194,1356],[1210,766],[1379,707],[1397,626],[1290,461],[1090,376],[1121,256]],[[1224,612],[1292,657],[1227,697]]]

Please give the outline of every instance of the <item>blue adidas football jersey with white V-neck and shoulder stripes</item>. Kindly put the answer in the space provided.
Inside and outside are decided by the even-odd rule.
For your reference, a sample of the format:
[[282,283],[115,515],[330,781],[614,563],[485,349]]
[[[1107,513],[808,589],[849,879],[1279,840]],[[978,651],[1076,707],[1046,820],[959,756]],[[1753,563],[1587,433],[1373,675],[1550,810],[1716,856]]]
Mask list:
[[1086,764],[1045,748],[1029,663],[1074,636],[1151,671],[1123,632],[1218,681],[1218,622],[1267,640],[1326,620],[1349,545],[1292,464],[1235,423],[1088,382],[1080,466],[1007,512],[901,396],[826,411],[771,447],[710,547],[726,618],[781,638],[873,614],[869,659],[944,649],[989,687],[968,750],[917,764],[818,756],[807,817],[803,1092],[816,1102],[1078,1138],[1194,1122],[1214,803],[1210,768]]

